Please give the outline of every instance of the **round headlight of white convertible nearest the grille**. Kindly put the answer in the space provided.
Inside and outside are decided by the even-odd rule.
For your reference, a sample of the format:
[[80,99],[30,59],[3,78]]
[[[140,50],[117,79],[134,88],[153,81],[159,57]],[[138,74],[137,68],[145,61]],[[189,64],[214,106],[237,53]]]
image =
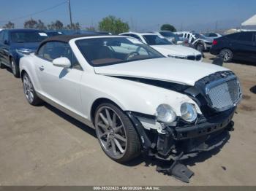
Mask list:
[[193,104],[181,104],[181,118],[187,122],[193,122],[197,118],[197,110]]

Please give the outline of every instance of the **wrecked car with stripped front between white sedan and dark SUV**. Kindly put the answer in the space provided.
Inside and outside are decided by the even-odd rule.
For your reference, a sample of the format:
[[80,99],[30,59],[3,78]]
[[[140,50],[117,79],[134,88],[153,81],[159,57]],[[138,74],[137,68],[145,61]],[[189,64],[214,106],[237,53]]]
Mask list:
[[195,47],[196,50],[203,52],[208,51],[211,48],[212,39],[207,39],[206,36],[201,34],[187,32],[187,31],[179,31],[176,32],[178,36],[182,38],[189,39],[189,44],[192,44],[192,47]]

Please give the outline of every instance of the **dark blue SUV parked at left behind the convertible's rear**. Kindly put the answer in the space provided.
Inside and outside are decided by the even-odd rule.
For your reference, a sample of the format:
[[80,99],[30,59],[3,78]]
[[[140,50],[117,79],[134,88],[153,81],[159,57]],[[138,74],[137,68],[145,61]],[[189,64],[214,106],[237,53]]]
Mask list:
[[39,42],[48,38],[44,31],[34,29],[4,29],[0,32],[0,66],[12,69],[20,76],[19,62],[23,55],[37,50]]

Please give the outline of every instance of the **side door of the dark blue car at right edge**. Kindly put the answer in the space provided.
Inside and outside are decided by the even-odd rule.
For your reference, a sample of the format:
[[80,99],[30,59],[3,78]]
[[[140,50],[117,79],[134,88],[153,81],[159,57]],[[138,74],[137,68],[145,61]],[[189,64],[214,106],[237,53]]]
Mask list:
[[255,56],[255,44],[253,32],[241,32],[234,41],[236,56],[245,60],[252,60]]

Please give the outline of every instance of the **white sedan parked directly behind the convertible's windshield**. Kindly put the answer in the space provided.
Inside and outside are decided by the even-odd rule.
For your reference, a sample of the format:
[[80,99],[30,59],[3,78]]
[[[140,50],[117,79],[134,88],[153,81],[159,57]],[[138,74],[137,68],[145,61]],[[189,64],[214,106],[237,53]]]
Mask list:
[[165,39],[164,36],[152,33],[123,33],[122,36],[132,36],[145,44],[150,45],[162,55],[170,58],[188,59],[193,61],[202,61],[202,54],[197,50],[182,45],[173,44]]

